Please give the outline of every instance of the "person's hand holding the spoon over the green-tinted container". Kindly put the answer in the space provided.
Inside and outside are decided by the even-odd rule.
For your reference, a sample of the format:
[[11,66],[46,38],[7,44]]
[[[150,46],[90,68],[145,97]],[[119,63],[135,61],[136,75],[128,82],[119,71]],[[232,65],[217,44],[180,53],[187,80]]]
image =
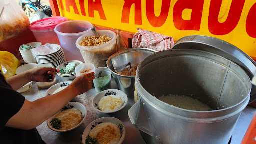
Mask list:
[[92,80],[94,78],[94,72],[82,74],[81,76],[76,77],[68,87],[75,92],[75,95],[83,94],[92,88]]

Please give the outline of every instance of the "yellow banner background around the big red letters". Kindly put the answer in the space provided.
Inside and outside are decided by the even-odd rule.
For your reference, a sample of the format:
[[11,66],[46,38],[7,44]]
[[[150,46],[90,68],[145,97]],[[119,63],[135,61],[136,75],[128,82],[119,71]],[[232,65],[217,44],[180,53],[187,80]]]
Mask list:
[[[70,12],[66,10],[66,1],[75,1],[79,14],[75,14],[75,11],[72,6],[70,7]],[[122,11],[124,0],[101,0],[101,4],[103,7],[104,14],[106,16],[106,20],[100,19],[98,11],[94,11],[94,17],[88,16],[88,0],[84,0],[84,9],[86,12],[86,16],[81,14],[80,8],[80,0],[57,0],[58,7],[61,16],[67,17],[68,19],[79,19],[79,20],[88,20],[92,24],[120,29],[123,31],[136,32],[136,28],[147,29],[150,31],[158,32],[161,34],[169,35],[174,37],[175,40],[180,39],[183,36],[187,35],[207,35],[212,37],[217,37],[219,39],[225,40],[227,42],[232,43],[237,46],[245,53],[252,57],[256,57],[256,38],[250,37],[246,32],[246,18],[249,13],[250,8],[255,4],[254,0],[245,0],[242,13],[236,27],[226,35],[214,35],[208,29],[208,16],[209,16],[209,8],[210,8],[210,0],[204,0],[202,17],[200,23],[200,30],[179,30],[175,27],[173,22],[173,7],[178,0],[171,0],[168,17],[165,23],[160,27],[153,27],[146,15],[146,0],[141,0],[141,13],[142,13],[142,24],[135,24],[135,8],[134,4],[130,8],[129,15],[129,23],[122,23]],[[95,0],[94,0],[95,1]],[[99,0],[100,1],[100,0]],[[126,0],[127,1],[127,0]],[[254,2],[253,2],[254,1]],[[196,2],[196,0],[194,0]],[[218,15],[218,21],[224,22],[229,13],[230,5],[232,0],[222,0],[220,12]],[[154,0],[154,12],[155,15],[158,16],[161,12],[162,0]],[[61,4],[63,4],[63,9],[61,9]],[[182,18],[185,20],[189,20],[191,16],[191,9],[184,9],[182,12]],[[256,24],[255,24],[256,26]]]

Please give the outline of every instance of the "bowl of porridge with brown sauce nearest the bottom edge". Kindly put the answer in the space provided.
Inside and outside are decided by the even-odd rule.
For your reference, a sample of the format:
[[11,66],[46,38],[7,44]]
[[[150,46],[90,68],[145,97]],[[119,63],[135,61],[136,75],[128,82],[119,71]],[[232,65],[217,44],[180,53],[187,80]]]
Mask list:
[[121,144],[125,138],[125,126],[117,118],[102,117],[92,121],[83,131],[83,144]]

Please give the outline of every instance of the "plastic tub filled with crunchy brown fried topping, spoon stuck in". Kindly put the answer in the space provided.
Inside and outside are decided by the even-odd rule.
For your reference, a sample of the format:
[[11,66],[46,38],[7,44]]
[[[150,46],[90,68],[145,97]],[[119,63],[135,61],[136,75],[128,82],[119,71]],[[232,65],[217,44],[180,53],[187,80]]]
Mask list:
[[98,30],[99,36],[86,33],[76,40],[76,47],[80,50],[84,61],[95,67],[104,67],[109,56],[116,50],[116,34],[110,30]]

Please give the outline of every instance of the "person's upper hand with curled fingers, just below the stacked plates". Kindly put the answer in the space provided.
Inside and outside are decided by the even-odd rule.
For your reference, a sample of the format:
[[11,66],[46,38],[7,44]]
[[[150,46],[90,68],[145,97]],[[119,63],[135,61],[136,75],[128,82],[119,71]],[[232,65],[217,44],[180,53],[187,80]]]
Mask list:
[[31,81],[35,82],[51,82],[55,78],[56,68],[40,67],[28,70]]

